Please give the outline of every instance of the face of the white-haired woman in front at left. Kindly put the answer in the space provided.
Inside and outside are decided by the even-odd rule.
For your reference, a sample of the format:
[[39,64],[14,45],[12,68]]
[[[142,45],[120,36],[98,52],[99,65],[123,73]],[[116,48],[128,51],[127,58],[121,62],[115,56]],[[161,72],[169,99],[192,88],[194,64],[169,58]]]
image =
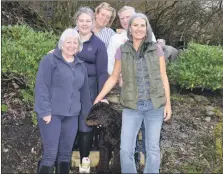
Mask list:
[[62,53],[66,56],[73,56],[78,52],[78,47],[78,38],[74,36],[69,36],[65,39],[62,45]]

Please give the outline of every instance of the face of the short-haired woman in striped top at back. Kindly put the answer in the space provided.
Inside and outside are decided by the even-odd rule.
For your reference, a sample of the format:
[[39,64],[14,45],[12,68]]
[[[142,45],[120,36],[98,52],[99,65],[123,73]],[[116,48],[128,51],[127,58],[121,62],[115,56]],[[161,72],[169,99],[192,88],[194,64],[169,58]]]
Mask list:
[[109,24],[111,17],[112,12],[105,8],[102,8],[97,14],[95,14],[95,23],[101,28],[104,28]]

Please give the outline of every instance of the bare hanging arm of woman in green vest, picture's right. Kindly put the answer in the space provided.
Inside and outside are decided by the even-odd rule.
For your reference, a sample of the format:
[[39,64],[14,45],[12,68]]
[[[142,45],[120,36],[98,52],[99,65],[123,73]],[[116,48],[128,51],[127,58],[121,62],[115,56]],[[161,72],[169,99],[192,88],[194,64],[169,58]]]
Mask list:
[[166,63],[165,63],[165,58],[164,56],[161,56],[159,58],[160,62],[160,74],[161,74],[161,79],[163,81],[163,86],[164,86],[164,91],[165,91],[165,96],[166,96],[166,105],[164,108],[164,121],[167,121],[171,118],[171,102],[170,102],[170,86],[169,86],[169,80],[166,74]]

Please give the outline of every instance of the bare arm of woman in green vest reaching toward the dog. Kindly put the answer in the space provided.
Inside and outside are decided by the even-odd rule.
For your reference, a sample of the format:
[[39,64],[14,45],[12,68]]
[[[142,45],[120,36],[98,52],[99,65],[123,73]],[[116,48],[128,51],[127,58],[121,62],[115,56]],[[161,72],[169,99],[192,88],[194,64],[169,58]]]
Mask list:
[[119,79],[120,73],[121,73],[121,60],[116,59],[114,70],[112,71],[111,76],[105,82],[105,85],[102,88],[101,92],[96,97],[94,104],[101,101],[112,90],[112,88],[116,85]]

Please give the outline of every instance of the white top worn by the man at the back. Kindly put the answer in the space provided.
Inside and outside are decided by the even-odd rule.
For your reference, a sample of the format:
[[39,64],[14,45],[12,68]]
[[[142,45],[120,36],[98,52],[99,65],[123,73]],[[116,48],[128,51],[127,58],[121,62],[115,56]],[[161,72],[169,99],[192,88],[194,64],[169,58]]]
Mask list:
[[[115,65],[115,53],[116,50],[128,40],[127,31],[123,31],[121,34],[114,34],[109,42],[108,53],[108,74],[111,75]],[[152,32],[152,41],[156,42],[156,37]]]

